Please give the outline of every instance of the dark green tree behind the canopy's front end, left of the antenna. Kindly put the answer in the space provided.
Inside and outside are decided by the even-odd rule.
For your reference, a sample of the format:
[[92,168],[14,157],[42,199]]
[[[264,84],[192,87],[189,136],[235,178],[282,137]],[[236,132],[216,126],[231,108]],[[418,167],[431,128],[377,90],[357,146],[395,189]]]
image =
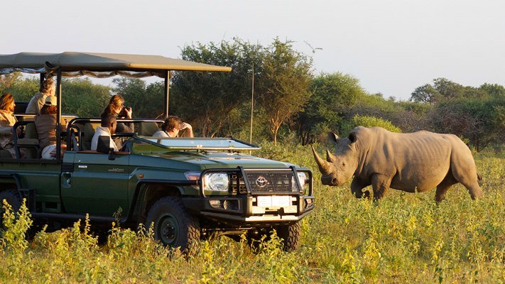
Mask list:
[[[232,42],[185,46],[182,59],[232,67],[232,72],[175,72],[170,92],[170,113],[189,121],[201,136],[216,136],[234,131],[223,126],[244,126],[237,109],[251,98],[252,66],[261,74],[263,48],[238,38]],[[239,115],[240,117],[240,115]],[[227,133],[223,133],[222,130]]]

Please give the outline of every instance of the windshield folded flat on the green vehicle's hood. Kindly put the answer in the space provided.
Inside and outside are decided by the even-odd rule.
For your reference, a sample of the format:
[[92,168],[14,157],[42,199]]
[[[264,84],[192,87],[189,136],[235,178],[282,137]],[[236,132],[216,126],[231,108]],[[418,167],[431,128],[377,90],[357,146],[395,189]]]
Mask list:
[[141,137],[170,149],[195,150],[258,150],[259,147],[234,138],[154,138]]

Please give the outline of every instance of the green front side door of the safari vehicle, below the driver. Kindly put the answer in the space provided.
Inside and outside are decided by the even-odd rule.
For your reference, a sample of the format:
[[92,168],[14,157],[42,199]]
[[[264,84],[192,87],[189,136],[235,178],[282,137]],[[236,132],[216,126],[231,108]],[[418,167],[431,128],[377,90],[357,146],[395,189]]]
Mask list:
[[67,165],[71,170],[62,173],[61,195],[65,210],[68,213],[112,217],[121,209],[121,216],[126,216],[131,171],[129,158],[128,153],[75,153],[73,165]]

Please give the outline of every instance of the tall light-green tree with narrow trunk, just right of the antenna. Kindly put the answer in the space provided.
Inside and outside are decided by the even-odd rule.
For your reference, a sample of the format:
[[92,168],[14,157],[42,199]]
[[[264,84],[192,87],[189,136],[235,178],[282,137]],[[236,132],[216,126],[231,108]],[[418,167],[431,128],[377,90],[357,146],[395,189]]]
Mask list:
[[282,124],[303,111],[310,98],[311,68],[312,60],[293,50],[290,41],[276,38],[265,50],[258,102],[267,116],[274,143]]

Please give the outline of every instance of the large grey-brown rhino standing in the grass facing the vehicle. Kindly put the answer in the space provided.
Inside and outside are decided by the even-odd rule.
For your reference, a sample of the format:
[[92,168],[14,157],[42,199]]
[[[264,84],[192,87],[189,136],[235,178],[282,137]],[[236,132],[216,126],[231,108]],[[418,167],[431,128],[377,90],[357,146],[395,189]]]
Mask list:
[[346,138],[335,133],[329,137],[337,148],[335,154],[327,151],[326,160],[312,147],[323,185],[342,185],[354,176],[352,194],[369,198],[370,192],[362,190],[371,185],[374,200],[384,197],[390,187],[405,192],[437,187],[435,200],[440,202],[457,182],[467,187],[472,199],[483,195],[472,153],[455,135],[358,126]]

